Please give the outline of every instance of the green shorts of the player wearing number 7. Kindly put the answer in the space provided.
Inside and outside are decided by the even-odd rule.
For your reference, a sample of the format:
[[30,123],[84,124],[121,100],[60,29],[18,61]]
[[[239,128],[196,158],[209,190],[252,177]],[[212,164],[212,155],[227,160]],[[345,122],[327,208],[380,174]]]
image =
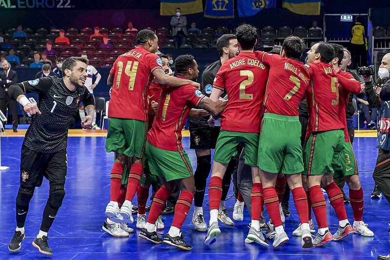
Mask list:
[[297,116],[265,113],[258,146],[258,167],[270,173],[301,173],[301,128]]

